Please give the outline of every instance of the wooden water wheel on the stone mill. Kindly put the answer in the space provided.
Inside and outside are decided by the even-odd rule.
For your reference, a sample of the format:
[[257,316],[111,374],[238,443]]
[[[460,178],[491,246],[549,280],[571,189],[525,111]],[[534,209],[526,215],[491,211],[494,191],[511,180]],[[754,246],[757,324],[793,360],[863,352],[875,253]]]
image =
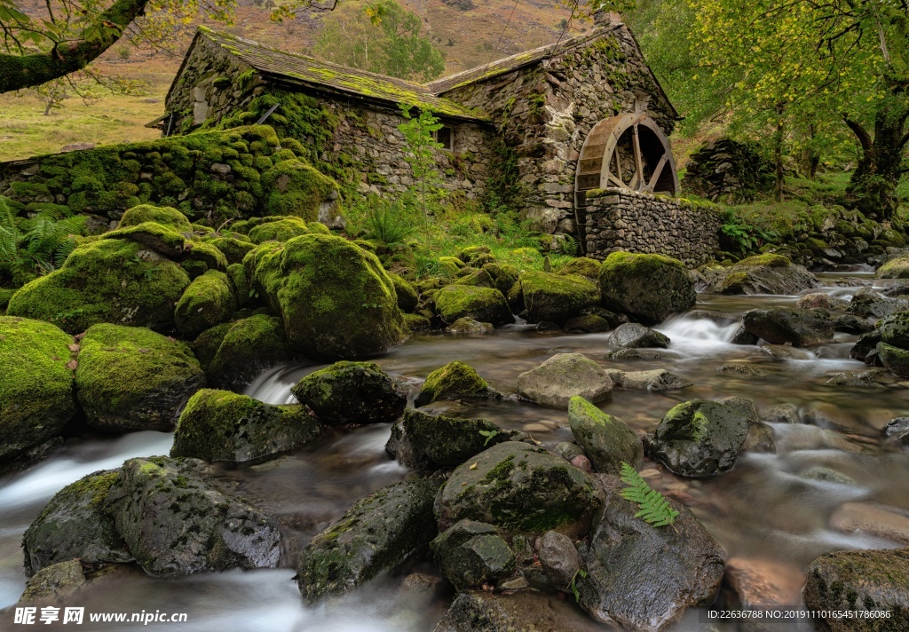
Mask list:
[[678,192],[673,153],[654,119],[624,114],[594,125],[581,149],[575,190],[583,200],[585,191],[608,187],[636,193]]

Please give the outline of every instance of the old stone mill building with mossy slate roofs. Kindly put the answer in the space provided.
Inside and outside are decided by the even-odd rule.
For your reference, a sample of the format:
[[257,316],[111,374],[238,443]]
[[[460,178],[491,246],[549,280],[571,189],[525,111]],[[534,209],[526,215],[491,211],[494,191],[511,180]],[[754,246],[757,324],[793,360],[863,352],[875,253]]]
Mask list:
[[[595,226],[613,230],[615,221],[600,221],[602,205],[588,216],[588,191],[678,190],[666,140],[678,116],[614,15],[600,15],[589,34],[425,85],[203,27],[165,104],[155,121],[165,135],[265,120],[304,145],[348,194],[380,195],[413,184],[397,129],[400,104],[430,108],[445,125],[437,162],[453,196],[496,196],[544,232],[576,235],[582,246],[591,226],[598,256],[612,233]],[[654,197],[635,206],[647,199]]]

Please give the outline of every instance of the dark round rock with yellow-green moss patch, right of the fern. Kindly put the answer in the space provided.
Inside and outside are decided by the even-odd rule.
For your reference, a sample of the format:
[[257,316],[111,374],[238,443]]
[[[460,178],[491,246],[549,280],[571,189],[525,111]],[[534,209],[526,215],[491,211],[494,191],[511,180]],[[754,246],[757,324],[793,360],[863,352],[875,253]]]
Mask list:
[[694,399],[666,413],[650,449],[675,474],[714,476],[735,465],[750,420],[737,406]]

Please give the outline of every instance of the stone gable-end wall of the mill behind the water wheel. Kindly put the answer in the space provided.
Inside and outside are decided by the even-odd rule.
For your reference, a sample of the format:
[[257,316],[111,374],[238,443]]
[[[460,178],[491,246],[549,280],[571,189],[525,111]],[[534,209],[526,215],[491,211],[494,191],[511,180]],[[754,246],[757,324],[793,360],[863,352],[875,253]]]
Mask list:
[[604,25],[539,64],[443,96],[493,117],[517,154],[524,214],[546,232],[575,233],[574,173],[594,125],[644,112],[665,135],[674,127],[674,112],[624,25]]

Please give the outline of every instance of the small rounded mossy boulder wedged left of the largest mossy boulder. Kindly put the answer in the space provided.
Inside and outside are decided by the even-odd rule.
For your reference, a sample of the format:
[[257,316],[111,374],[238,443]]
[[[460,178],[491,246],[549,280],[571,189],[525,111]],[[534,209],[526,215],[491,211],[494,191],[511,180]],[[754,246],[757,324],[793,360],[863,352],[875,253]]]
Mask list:
[[234,286],[223,272],[209,270],[189,284],[177,301],[174,318],[183,336],[195,338],[236,311]]

